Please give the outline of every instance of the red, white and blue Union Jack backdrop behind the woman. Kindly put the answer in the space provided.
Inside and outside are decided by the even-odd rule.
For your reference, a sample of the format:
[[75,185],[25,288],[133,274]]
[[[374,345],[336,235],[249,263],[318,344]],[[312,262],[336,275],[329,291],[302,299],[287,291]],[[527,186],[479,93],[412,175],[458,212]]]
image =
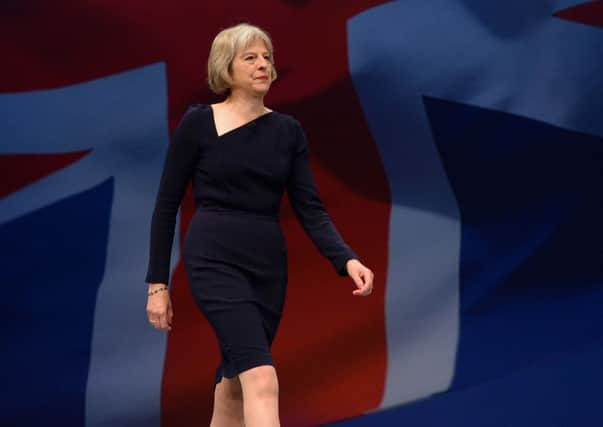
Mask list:
[[[283,200],[284,426],[601,426],[603,2],[0,5],[0,425],[207,425],[218,347],[173,250],[146,320],[170,134],[214,35],[273,37],[266,99],[375,273],[353,297]],[[346,421],[347,420],[347,421]]]

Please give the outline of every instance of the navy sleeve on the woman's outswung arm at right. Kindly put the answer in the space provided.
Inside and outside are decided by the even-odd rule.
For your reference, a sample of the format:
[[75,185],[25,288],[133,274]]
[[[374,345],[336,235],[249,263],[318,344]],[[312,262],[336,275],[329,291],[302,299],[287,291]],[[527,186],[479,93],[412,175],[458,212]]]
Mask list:
[[347,276],[346,262],[358,259],[343,241],[327,213],[310,169],[306,135],[295,121],[295,147],[287,193],[295,215],[319,252],[333,265],[337,274]]

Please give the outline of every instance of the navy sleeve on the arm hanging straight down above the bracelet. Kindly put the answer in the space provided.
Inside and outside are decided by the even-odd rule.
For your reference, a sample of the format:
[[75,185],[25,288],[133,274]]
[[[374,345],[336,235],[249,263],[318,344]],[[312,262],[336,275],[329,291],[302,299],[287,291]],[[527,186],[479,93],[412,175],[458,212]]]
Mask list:
[[199,155],[195,109],[190,108],[169,144],[151,222],[147,283],[168,283],[176,215]]

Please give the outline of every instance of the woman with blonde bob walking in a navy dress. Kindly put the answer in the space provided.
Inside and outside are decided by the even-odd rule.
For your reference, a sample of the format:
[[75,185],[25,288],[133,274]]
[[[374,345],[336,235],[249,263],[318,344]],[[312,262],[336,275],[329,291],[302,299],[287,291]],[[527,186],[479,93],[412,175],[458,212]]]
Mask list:
[[153,213],[147,314],[172,327],[169,257],[176,213],[192,178],[196,211],[183,241],[195,302],[219,341],[211,426],[278,426],[278,381],[270,346],[287,287],[278,210],[286,190],[298,220],[354,295],[372,292],[373,273],[333,226],[316,191],[297,120],[264,106],[276,78],[272,42],[240,24],[220,32],[208,61],[223,102],[194,105],[168,148]]

